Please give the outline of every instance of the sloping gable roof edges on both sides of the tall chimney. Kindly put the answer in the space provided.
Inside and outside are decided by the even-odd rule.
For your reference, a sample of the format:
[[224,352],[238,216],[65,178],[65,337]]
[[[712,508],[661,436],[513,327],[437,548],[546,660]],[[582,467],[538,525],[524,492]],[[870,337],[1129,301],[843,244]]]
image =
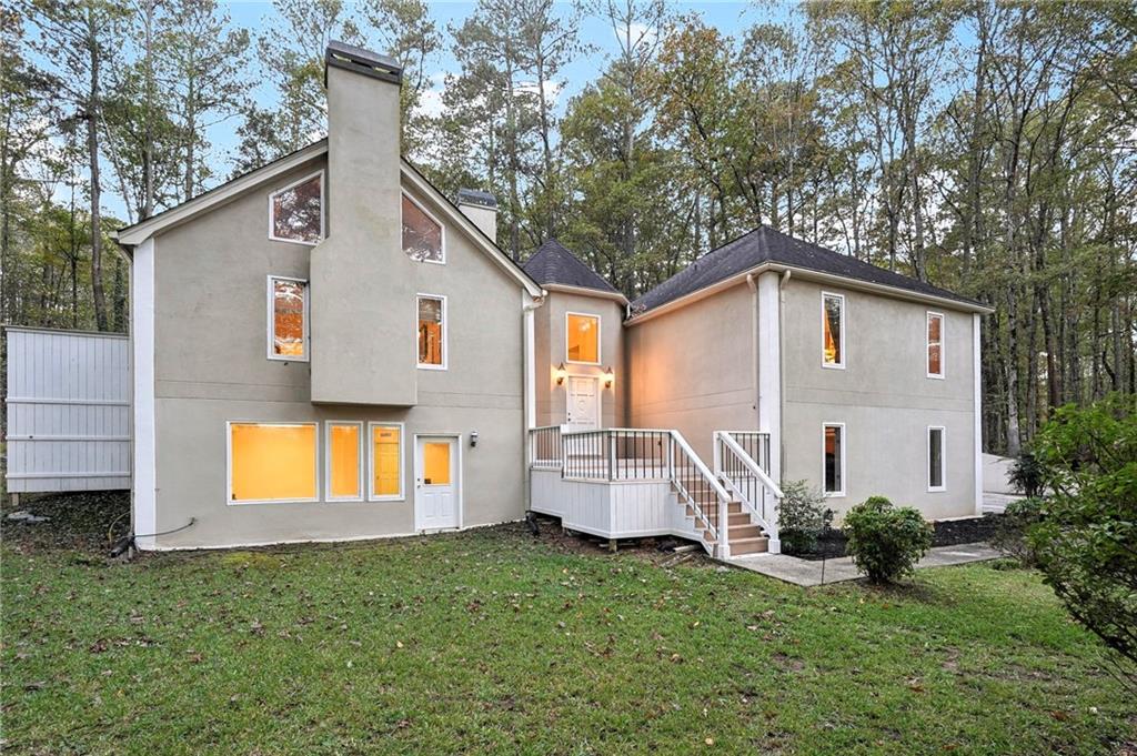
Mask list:
[[[186,200],[181,205],[176,205],[167,210],[158,213],[157,215],[152,215],[146,221],[135,223],[132,226],[126,226],[125,229],[119,229],[114,234],[115,240],[124,248],[133,248],[165,229],[186,223],[198,215],[213,209],[214,207],[224,205],[225,202],[235,199],[238,196],[254,190],[267,183],[272,178],[288,173],[289,171],[292,171],[309,160],[323,157],[326,153],[327,139],[325,138],[318,142],[313,142],[296,152],[285,155],[284,157],[277,158],[276,160],[263,165],[259,168],[250,171],[249,173],[241,174],[240,176],[215,186],[205,193],[198,194],[193,199]],[[414,185],[420,192],[430,197],[449,223],[462,227],[471,241],[474,242],[474,246],[481,249],[481,251],[489,256],[493,263],[514,277],[531,297],[541,296],[541,288],[522,269],[522,267],[513,261],[508,255],[503,252],[489,236],[482,233],[482,231],[474,225],[474,223],[467,218],[446,194],[439,191],[434,184],[430,183],[430,181],[428,181],[417,168],[410,165],[410,163],[406,159],[400,160],[399,168],[400,181],[405,181]]]

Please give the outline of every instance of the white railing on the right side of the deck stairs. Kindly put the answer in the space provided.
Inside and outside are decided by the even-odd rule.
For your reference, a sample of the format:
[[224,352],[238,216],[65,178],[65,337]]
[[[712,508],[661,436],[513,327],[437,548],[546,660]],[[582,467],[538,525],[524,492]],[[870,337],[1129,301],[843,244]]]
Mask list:
[[755,459],[770,466],[770,437],[752,431],[714,432],[714,471],[728,489],[742,502],[747,512],[770,539],[771,554],[781,553],[778,535],[778,509],[782,490]]

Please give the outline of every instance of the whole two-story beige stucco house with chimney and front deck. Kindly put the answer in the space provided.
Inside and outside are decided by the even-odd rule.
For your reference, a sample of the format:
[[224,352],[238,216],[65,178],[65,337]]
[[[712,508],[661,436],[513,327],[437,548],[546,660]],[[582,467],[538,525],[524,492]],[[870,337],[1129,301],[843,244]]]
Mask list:
[[327,139],[119,232],[143,549],[517,520],[777,550],[779,481],[977,512],[977,302],[769,229],[629,304],[399,151],[332,43]]

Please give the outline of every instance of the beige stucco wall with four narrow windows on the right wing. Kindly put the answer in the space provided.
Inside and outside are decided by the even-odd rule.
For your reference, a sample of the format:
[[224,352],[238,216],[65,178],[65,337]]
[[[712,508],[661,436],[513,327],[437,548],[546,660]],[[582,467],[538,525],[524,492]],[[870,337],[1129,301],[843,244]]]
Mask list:
[[[821,366],[821,292],[845,296],[845,369]],[[927,377],[926,314],[944,314],[943,380]],[[782,321],[782,480],[822,484],[822,424],[845,423],[844,512],[873,495],[928,518],[974,513],[972,315],[791,279]],[[946,429],[947,490],[927,490],[929,425]]]

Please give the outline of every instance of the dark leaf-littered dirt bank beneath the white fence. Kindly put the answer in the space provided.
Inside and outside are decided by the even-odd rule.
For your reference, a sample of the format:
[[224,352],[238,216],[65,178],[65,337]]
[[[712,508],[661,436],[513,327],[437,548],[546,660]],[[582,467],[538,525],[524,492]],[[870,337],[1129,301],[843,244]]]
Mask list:
[[[105,556],[114,539],[130,532],[128,491],[23,493],[18,507],[11,505],[10,498],[3,498],[0,505],[3,540],[20,551],[84,551]],[[8,520],[14,512],[30,512],[47,520]]]

